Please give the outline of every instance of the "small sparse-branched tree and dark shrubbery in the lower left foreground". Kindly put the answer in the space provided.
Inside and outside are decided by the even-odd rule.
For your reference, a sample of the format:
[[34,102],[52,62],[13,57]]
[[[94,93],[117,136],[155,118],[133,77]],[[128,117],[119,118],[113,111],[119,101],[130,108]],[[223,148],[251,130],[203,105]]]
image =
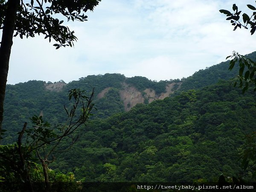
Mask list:
[[[69,112],[64,107],[67,112],[67,123],[51,126],[48,122],[44,122],[42,116],[33,116],[31,120],[34,126],[26,128],[27,123],[24,123],[16,145],[0,145],[0,173],[1,171],[4,173],[4,177],[0,175],[0,178],[10,181],[12,179],[10,175],[14,175],[15,181],[29,183],[30,191],[33,191],[31,170],[36,166],[33,159],[33,154],[36,154],[43,169],[46,190],[49,191],[48,165],[55,160],[52,153],[57,151],[62,141],[66,145],[68,139],[72,140],[70,145],[76,142],[79,137],[78,128],[88,122],[90,111],[93,109],[94,89],[90,97],[85,96],[85,91],[80,89],[69,92],[69,100],[73,100],[73,107]],[[22,142],[24,135],[26,141]],[[67,148],[70,148],[70,145]],[[51,160],[50,155],[52,155]]]

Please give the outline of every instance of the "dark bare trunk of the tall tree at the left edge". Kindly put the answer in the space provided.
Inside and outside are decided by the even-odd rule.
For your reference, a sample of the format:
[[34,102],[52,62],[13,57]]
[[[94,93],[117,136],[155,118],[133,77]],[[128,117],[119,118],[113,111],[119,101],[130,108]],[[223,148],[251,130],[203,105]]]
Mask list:
[[0,142],[3,122],[3,102],[9,70],[12,38],[15,29],[15,21],[19,4],[20,0],[8,0],[3,23],[2,41],[0,46]]

